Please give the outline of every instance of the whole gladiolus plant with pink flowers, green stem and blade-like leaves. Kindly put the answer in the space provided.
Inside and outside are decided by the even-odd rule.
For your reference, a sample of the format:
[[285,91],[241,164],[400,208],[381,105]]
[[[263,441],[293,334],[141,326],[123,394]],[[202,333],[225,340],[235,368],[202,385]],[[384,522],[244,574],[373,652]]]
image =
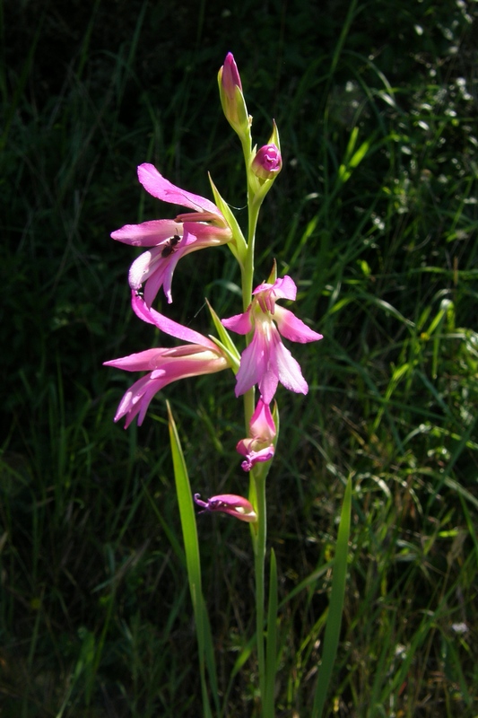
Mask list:
[[[258,150],[256,146],[252,146],[252,118],[248,115],[239,70],[231,53],[225,59],[218,80],[222,109],[230,126],[239,136],[244,154],[248,198],[247,232],[242,232],[230,206],[221,197],[213,182],[211,184],[214,201],[176,187],[151,163],[141,164],[137,168],[138,180],[149,194],[170,205],[187,207],[190,211],[178,214],[172,219],[125,224],[112,232],[111,237],[135,247],[147,248],[133,261],[128,275],[132,309],[136,317],[160,329],[161,342],[162,337],[167,337],[167,341],[172,337],[183,343],[177,346],[143,349],[105,364],[126,372],[144,372],[143,376],[126,390],[117,407],[115,421],[125,418],[125,428],[135,419],[137,424],[141,425],[156,394],[172,382],[223,370],[231,370],[234,375],[231,376],[231,393],[234,393],[236,398],[241,398],[244,410],[246,436],[238,436],[237,451],[243,459],[240,468],[246,472],[242,476],[248,477],[248,497],[230,493],[213,495],[203,500],[200,494],[193,495],[178,433],[168,405],[169,434],[179,512],[185,537],[188,579],[196,617],[204,717],[213,716],[211,699],[218,716],[227,714],[227,706],[220,707],[217,690],[213,690],[217,680],[211,661],[213,644],[207,630],[209,622],[201,591],[195,505],[201,508],[200,513],[221,512],[225,517],[234,517],[250,525],[256,578],[256,661],[259,699],[255,715],[261,718],[274,718],[275,670],[278,662],[275,633],[278,604],[277,574],[274,552],[271,552],[269,609],[265,622],[267,556],[265,479],[278,447],[279,410],[276,399],[278,386],[281,384],[286,390],[301,394],[307,394],[309,391],[300,364],[293,358],[287,345],[290,342],[301,344],[316,342],[322,339],[322,335],[280,303],[295,301],[297,287],[291,276],[277,276],[275,262],[270,274],[261,284],[253,288],[257,217],[267,192],[282,170],[279,132],[273,122],[268,143]],[[191,252],[209,250],[221,245],[229,247],[239,264],[242,308],[238,314],[221,320],[210,307],[217,337],[204,337],[194,328],[170,320],[156,311],[152,305],[161,289],[166,295],[167,302],[173,301],[172,276],[181,258]],[[200,260],[198,258],[198,262]],[[239,346],[236,346],[230,332],[239,335]],[[173,387],[170,390],[174,392]],[[237,457],[234,460],[239,464]],[[239,480],[239,485],[240,483]],[[350,494],[349,489],[350,486],[348,487]],[[348,501],[349,503],[344,501],[344,507],[345,509],[348,507],[350,512],[350,495]],[[345,519],[343,518],[341,522],[343,531],[347,526],[346,513],[345,510],[343,512]],[[342,564],[337,565],[345,565],[343,556],[346,563],[346,540],[341,556]],[[342,591],[344,574],[341,580],[343,584],[340,583],[339,588]],[[337,595],[335,603],[341,610],[340,591]],[[332,648],[325,648],[330,655],[333,655],[334,641],[335,635],[332,642],[330,640],[328,642]],[[211,689],[206,680],[206,669]],[[327,682],[328,678],[320,684],[320,688],[317,687],[314,705],[310,711],[310,715],[314,718],[320,714],[323,705],[321,696],[325,695]]]

